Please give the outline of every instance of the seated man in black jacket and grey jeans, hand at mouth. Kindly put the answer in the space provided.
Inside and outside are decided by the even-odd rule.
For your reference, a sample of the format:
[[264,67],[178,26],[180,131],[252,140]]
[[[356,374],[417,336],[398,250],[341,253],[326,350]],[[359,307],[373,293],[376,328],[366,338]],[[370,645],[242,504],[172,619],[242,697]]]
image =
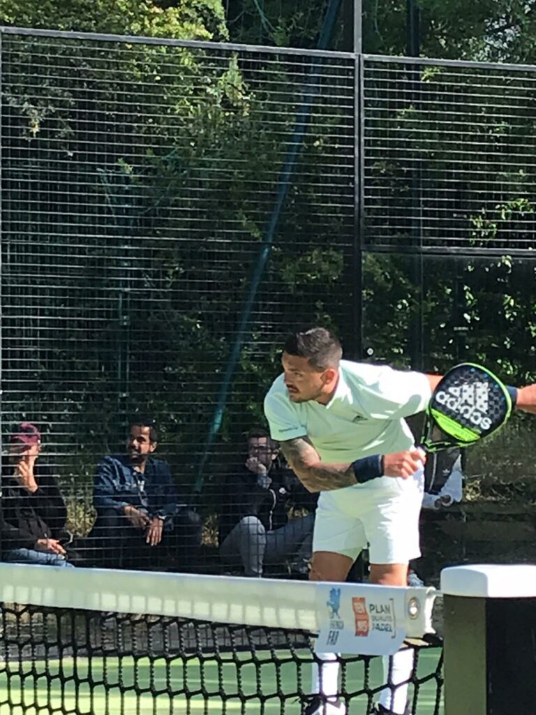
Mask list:
[[222,483],[219,553],[228,566],[242,566],[245,576],[262,576],[265,564],[284,561],[297,575],[308,573],[314,514],[289,520],[287,509],[314,510],[317,495],[277,457],[267,431],[250,430],[247,458]]

